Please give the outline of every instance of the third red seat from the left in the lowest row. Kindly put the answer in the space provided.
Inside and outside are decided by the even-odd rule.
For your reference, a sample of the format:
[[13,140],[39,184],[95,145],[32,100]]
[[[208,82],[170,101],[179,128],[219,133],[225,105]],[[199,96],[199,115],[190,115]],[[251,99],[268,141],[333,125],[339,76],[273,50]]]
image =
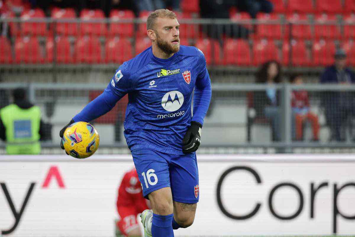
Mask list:
[[[54,48],[56,48],[56,58],[54,59]],[[53,38],[48,38],[46,43],[47,50],[47,62],[52,63],[56,60],[56,63],[73,63],[74,57],[70,50],[69,39],[65,36],[58,36],[53,41]]]

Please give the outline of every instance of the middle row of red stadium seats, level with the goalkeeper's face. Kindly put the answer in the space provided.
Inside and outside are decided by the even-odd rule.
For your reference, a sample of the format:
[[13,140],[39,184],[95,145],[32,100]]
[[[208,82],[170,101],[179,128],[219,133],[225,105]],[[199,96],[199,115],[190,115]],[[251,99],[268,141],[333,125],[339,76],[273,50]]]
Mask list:
[[[141,12],[140,19],[146,21],[149,12]],[[80,14],[82,23],[77,23],[74,9],[53,9],[52,19],[57,20],[56,23],[33,22],[31,20],[44,19],[44,12],[41,9],[26,10],[22,12],[21,19],[27,20],[20,24],[11,22],[11,34],[14,36],[53,36],[53,33],[59,35],[97,35],[97,36],[121,36],[133,37],[146,36],[146,24],[138,24],[138,30],[135,33],[135,25],[132,23],[135,18],[130,10],[112,10],[110,13],[111,23],[86,23],[88,20],[103,20],[104,13],[102,10],[82,10]],[[9,15],[14,17],[14,15]],[[190,13],[178,14],[179,19],[192,20]],[[290,33],[296,38],[350,38],[355,37],[355,12],[344,15],[343,23],[339,22],[339,16],[335,14],[317,14],[314,20],[311,20],[307,14],[290,13],[285,16],[287,22],[293,23],[290,26],[287,22],[280,18],[277,13],[274,14],[258,14],[257,19],[261,21],[261,26],[257,27],[257,31],[253,34],[255,38],[288,38]],[[123,20],[127,23],[115,23],[115,21]],[[231,20],[234,22],[241,20],[250,20],[247,13],[234,12],[231,14]],[[63,21],[71,21],[63,22]],[[272,22],[272,23],[270,23]],[[329,25],[332,23],[332,25]],[[243,24],[245,27],[252,29],[251,25]],[[290,27],[292,30],[290,32]],[[201,33],[203,27],[196,24],[181,24],[180,38],[203,38]]]

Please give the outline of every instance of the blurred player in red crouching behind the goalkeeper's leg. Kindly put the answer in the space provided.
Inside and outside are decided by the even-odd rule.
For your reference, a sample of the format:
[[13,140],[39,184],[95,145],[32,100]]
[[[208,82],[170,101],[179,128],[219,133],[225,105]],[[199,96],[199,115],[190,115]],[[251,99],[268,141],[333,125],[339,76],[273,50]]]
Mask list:
[[150,203],[143,197],[135,168],[124,174],[118,189],[116,205],[120,216],[119,221],[116,222],[116,236],[142,236],[137,215],[150,209]]

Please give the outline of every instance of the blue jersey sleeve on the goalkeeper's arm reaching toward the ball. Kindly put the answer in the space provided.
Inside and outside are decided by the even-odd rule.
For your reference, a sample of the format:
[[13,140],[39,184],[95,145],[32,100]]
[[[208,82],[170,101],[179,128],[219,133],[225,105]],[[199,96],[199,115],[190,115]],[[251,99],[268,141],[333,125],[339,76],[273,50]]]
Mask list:
[[132,88],[126,62],[116,70],[104,92],[73,117],[74,122],[90,122],[109,112]]

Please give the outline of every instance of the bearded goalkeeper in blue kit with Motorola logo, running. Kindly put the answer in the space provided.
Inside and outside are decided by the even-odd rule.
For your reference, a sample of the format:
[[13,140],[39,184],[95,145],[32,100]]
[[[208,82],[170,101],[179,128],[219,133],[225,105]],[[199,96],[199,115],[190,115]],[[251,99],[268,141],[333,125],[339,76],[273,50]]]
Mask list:
[[200,188],[195,151],[211,100],[211,80],[203,53],[180,46],[174,12],[152,12],[147,35],[152,46],[123,63],[105,91],[70,124],[100,117],[128,93],[124,135],[143,196],[152,205],[141,215],[144,235],[172,237],[173,229],[186,228],[195,219]]

